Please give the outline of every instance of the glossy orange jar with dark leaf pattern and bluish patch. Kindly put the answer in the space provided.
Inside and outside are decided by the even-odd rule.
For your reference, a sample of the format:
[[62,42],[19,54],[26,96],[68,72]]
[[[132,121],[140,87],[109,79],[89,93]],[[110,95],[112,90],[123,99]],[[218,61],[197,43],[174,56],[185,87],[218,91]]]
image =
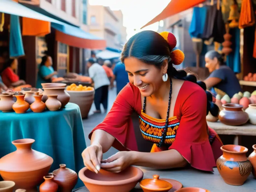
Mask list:
[[223,152],[216,162],[217,169],[229,185],[243,185],[252,170],[252,164],[246,157],[248,149],[240,145],[223,145]]

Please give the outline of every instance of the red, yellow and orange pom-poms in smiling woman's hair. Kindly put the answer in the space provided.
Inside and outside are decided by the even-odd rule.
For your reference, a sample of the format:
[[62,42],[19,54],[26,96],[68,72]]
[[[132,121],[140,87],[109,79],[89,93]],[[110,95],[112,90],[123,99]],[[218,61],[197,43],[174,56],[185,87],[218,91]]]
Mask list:
[[[168,42],[170,50],[172,51],[177,44],[176,37],[167,31],[160,33],[160,35]],[[170,58],[172,59],[174,65],[179,65],[184,61],[185,55],[181,50],[176,49],[171,52]]]

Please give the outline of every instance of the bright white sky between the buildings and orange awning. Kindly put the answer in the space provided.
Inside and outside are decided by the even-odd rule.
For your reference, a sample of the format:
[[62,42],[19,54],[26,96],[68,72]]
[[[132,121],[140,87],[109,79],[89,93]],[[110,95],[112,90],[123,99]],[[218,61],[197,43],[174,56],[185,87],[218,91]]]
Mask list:
[[[122,10],[127,39],[138,33],[140,28],[162,12],[170,0],[89,0],[90,5],[109,6],[112,10]],[[134,31],[136,29],[136,31]],[[157,31],[158,22],[142,30]]]

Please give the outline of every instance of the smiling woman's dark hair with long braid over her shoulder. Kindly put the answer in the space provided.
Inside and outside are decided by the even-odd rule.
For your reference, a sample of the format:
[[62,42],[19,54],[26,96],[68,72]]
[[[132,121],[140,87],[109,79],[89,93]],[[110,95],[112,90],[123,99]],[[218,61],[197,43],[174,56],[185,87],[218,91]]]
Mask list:
[[[187,74],[184,70],[176,70],[173,67],[174,61],[170,59],[171,48],[168,42],[159,33],[155,31],[141,31],[132,36],[124,45],[121,62],[124,63],[124,59],[127,57],[135,57],[141,61],[154,65],[157,68],[161,68],[164,60],[168,60],[167,74],[171,78],[176,78],[184,81],[191,81],[198,84],[205,90],[207,95],[207,111],[206,115],[210,112],[213,116],[219,115],[218,106],[212,102],[212,94],[206,91],[206,85],[202,81],[197,81],[197,78],[193,74]],[[163,144],[166,136],[166,127],[162,133],[161,141],[158,146]]]

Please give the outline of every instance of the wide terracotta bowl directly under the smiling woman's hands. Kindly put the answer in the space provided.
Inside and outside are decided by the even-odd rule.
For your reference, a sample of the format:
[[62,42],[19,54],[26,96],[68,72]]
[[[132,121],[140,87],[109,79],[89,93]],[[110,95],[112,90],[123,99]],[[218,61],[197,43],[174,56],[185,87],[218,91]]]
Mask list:
[[120,173],[112,173],[100,169],[99,173],[82,168],[78,177],[90,192],[129,192],[143,178],[143,172],[137,167],[129,166]]

